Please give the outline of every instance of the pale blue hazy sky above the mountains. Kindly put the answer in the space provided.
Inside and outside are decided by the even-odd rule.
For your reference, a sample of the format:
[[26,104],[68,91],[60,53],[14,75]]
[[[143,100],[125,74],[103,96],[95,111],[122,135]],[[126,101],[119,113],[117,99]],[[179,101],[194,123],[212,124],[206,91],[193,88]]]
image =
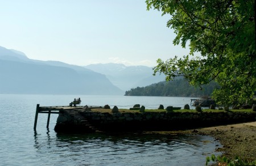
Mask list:
[[0,0],[0,46],[31,59],[85,66],[156,66],[185,56],[174,46],[170,15],[147,11],[145,0]]

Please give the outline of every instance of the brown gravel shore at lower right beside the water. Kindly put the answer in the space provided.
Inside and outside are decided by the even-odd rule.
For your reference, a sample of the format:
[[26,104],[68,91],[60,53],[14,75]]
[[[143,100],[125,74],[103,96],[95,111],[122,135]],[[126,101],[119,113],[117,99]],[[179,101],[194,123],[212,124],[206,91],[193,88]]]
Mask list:
[[256,160],[256,122],[206,127],[189,132],[214,137],[223,146],[216,150],[230,159],[240,156],[247,161]]

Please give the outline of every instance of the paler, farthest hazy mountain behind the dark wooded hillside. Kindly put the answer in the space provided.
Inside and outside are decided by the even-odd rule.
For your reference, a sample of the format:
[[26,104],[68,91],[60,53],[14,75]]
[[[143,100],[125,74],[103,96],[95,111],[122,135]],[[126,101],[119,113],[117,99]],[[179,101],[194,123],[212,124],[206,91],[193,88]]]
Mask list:
[[154,72],[147,66],[125,66],[117,63],[93,64],[84,66],[86,69],[105,74],[106,77],[121,90],[144,87],[165,79],[164,75],[152,75]]

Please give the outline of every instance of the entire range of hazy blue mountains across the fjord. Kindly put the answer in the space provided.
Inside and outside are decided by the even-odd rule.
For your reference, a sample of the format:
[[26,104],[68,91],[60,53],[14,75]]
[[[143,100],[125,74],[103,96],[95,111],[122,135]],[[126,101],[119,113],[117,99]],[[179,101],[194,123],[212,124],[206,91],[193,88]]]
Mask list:
[[152,69],[147,66],[115,63],[76,66],[39,61],[2,46],[0,78],[0,93],[76,95],[124,95],[131,87],[160,80],[159,76],[152,76]]

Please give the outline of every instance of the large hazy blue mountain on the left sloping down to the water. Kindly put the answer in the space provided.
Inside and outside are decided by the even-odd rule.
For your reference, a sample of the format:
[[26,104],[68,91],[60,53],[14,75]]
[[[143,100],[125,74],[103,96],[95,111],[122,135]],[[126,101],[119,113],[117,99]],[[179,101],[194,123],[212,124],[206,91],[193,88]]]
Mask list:
[[29,59],[0,46],[0,93],[123,95],[105,75],[56,61]]

